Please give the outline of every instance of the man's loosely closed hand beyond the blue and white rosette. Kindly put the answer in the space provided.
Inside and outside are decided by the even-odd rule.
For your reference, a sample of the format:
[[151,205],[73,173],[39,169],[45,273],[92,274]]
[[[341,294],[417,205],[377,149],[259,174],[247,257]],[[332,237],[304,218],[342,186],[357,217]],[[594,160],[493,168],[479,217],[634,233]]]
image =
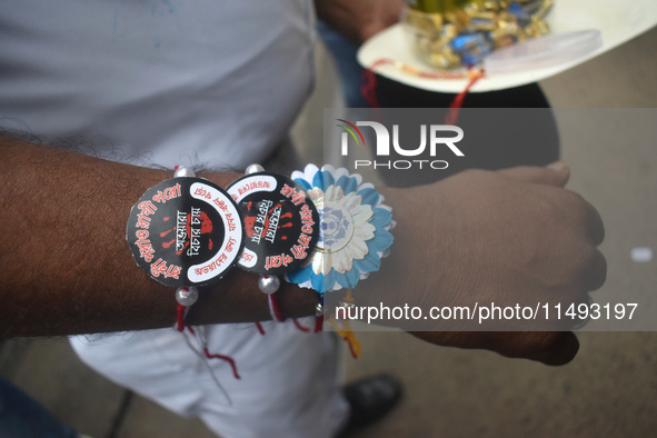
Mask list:
[[[358,305],[408,303],[427,315],[434,306],[475,302],[532,308],[588,302],[588,291],[606,277],[596,248],[604,228],[587,201],[563,189],[567,180],[567,167],[557,163],[470,170],[432,186],[388,191],[398,222],[392,253],[382,261],[382,272],[359,288]],[[559,322],[544,318],[536,326],[495,326],[540,330],[524,332],[465,331],[472,326],[455,320],[404,321],[401,328],[427,330],[415,336],[437,345],[560,365],[575,357],[578,344],[573,332],[558,331],[569,329]]]

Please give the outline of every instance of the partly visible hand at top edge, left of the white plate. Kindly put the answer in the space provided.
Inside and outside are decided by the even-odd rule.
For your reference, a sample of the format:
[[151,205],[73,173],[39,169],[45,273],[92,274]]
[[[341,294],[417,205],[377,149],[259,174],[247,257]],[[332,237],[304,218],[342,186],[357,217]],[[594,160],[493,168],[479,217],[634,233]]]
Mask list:
[[315,0],[317,14],[360,43],[399,21],[404,0]]

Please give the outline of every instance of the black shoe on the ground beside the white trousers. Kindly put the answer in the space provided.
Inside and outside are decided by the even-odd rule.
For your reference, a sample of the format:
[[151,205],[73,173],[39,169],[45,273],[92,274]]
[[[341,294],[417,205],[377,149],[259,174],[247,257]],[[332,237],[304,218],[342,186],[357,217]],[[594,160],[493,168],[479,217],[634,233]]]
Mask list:
[[347,438],[384,418],[401,398],[401,382],[392,375],[381,374],[347,385],[344,392],[351,415],[338,438]]

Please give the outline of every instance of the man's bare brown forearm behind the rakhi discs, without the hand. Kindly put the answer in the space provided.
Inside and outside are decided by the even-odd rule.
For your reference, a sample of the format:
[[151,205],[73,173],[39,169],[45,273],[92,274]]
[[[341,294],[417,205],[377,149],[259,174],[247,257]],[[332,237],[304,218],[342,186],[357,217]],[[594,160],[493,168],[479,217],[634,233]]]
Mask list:
[[[0,336],[56,336],[170,327],[175,289],[139,269],[126,243],[132,205],[171,172],[0,138]],[[226,187],[238,175],[202,177]],[[313,293],[281,286],[287,316]],[[257,276],[233,268],[203,288],[190,323],[269,319]]]

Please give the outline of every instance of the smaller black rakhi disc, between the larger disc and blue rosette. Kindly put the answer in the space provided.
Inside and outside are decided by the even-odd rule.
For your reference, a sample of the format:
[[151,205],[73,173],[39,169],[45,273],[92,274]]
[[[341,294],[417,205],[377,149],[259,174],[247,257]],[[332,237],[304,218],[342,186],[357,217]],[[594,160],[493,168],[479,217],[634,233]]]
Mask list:
[[259,172],[236,180],[226,190],[245,221],[240,268],[281,275],[310,260],[319,239],[319,215],[301,186],[280,175]]

